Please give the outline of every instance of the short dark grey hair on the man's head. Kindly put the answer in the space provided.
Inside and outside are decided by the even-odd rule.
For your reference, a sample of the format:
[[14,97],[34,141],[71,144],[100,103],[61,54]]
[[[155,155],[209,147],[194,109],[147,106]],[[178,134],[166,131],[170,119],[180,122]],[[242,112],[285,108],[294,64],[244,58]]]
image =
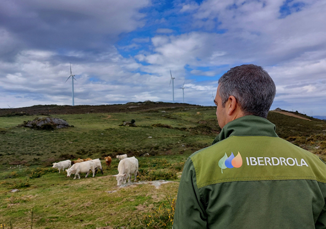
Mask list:
[[267,117],[276,87],[273,79],[261,66],[244,64],[228,70],[219,79],[222,106],[233,95],[245,115]]

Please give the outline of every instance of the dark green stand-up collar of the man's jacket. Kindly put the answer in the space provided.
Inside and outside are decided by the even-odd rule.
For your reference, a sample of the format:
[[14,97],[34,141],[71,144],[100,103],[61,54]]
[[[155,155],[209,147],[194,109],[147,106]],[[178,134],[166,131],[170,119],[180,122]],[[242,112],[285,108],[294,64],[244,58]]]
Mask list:
[[212,144],[229,136],[271,136],[277,137],[276,127],[266,118],[246,115],[228,122]]

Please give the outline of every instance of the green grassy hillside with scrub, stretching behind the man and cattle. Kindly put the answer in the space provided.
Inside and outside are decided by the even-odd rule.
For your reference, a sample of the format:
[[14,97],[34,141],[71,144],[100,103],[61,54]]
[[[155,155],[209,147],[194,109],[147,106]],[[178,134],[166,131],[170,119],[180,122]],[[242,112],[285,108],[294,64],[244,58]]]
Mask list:
[[[210,145],[221,130],[215,111],[150,101],[0,109],[0,223],[8,228],[10,223],[29,228],[32,222],[33,228],[171,228],[171,205],[186,158]],[[19,127],[48,115],[74,127]],[[325,121],[273,111],[267,118],[280,137],[326,159]],[[135,127],[120,125],[131,119]],[[123,153],[138,158],[139,182],[118,187],[111,175],[117,174],[115,156]],[[107,155],[113,158],[110,169],[103,160]],[[86,157],[101,158],[104,174],[74,180],[52,168],[55,161]],[[20,191],[11,192],[15,188]]]

